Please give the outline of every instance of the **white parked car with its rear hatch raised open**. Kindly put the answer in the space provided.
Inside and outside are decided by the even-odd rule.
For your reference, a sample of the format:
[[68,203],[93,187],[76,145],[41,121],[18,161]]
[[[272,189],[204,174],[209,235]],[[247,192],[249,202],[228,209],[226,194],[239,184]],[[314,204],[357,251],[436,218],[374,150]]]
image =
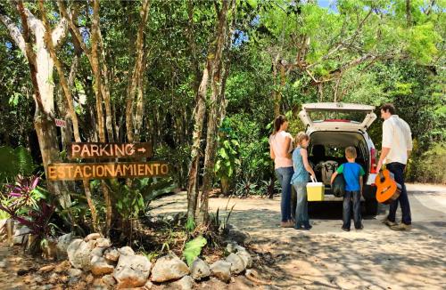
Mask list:
[[[342,165],[347,162],[344,149],[348,146],[356,148],[356,162],[366,172],[363,197],[368,214],[377,213],[376,187],[373,184],[377,152],[367,133],[368,127],[376,120],[374,109],[374,106],[368,105],[326,102],[303,104],[299,113],[306,133],[310,135],[309,160],[315,166],[319,181],[322,177],[327,180],[326,175],[321,176],[321,166]],[[342,200],[342,197],[333,196],[329,181],[324,183],[325,200]]]

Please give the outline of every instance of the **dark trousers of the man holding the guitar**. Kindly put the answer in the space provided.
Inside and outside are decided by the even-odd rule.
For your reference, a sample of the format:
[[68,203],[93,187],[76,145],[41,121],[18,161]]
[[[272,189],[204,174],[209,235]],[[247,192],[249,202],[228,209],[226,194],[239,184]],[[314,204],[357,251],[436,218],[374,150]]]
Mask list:
[[385,167],[394,174],[395,181],[397,183],[400,183],[401,185],[401,194],[400,197],[398,197],[396,200],[392,201],[392,204],[390,205],[389,209],[389,215],[387,217],[387,220],[390,222],[395,222],[395,214],[396,210],[398,209],[398,202],[401,204],[401,212],[402,212],[402,223],[405,224],[411,224],[412,218],[410,214],[410,205],[409,205],[409,197],[408,197],[408,191],[406,190],[406,185],[404,184],[404,168],[406,165],[403,165],[398,162],[392,162]]

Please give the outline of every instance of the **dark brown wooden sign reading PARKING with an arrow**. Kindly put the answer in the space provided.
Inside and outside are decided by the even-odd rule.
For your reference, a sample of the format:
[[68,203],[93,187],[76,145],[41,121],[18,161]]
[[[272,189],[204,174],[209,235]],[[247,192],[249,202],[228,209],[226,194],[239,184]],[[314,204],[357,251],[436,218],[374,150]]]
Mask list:
[[142,158],[152,157],[150,143],[71,143],[68,157],[74,158]]

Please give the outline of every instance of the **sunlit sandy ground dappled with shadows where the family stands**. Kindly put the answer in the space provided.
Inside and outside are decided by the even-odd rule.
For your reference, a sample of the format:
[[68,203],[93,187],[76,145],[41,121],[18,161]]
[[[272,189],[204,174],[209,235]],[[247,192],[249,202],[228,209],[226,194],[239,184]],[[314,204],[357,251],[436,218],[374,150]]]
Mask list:
[[[313,229],[279,228],[279,197],[211,198],[213,211],[235,204],[230,223],[248,231],[252,250],[271,265],[254,270],[263,284],[237,280],[236,287],[259,289],[446,289],[446,187],[408,184],[414,229],[389,230],[366,216],[364,230],[344,232],[342,205],[310,206]],[[186,210],[186,195],[156,201],[154,213]],[[400,210],[399,210],[399,213]],[[398,217],[399,218],[399,217]]]

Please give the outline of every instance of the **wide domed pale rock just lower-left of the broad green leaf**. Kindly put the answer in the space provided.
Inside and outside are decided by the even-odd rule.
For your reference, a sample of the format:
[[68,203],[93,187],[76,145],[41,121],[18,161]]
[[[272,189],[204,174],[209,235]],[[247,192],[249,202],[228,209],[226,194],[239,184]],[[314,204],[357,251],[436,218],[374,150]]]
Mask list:
[[165,282],[183,278],[189,274],[189,268],[186,263],[179,260],[175,254],[162,256],[155,262],[152,270],[153,282]]

